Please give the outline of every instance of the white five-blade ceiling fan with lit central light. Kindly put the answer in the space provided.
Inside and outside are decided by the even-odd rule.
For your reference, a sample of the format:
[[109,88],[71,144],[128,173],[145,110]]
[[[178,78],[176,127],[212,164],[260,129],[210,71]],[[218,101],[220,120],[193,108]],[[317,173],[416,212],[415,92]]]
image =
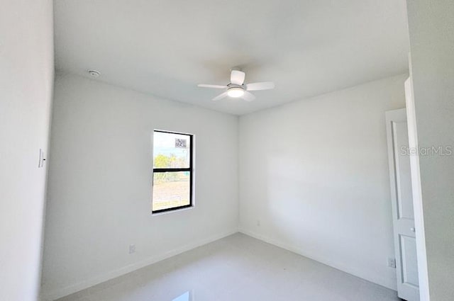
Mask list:
[[227,96],[233,98],[243,98],[245,101],[253,101],[255,96],[249,91],[274,89],[275,83],[264,81],[261,83],[245,84],[245,73],[238,70],[232,70],[230,74],[230,84],[227,86],[199,84],[202,88],[226,89],[223,93],[213,98],[214,101],[221,100]]

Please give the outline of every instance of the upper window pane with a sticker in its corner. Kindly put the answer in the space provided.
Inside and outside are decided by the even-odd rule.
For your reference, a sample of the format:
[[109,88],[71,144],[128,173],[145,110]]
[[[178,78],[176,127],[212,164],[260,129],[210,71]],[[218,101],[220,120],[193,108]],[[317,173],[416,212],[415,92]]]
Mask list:
[[155,132],[153,137],[153,168],[188,168],[190,142],[189,135],[169,132]]

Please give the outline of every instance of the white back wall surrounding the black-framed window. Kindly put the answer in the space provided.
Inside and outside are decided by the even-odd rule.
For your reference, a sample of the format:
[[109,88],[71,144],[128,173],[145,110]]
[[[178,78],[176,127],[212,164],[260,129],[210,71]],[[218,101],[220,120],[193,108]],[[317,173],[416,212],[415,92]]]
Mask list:
[[[53,113],[43,295],[237,231],[236,116],[72,75],[57,75]],[[195,208],[151,216],[153,129],[195,135]]]

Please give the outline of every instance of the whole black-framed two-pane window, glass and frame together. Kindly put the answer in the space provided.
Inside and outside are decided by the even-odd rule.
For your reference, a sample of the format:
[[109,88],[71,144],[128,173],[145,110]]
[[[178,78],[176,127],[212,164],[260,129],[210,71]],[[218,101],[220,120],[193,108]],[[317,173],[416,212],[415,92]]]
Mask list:
[[192,207],[192,135],[153,132],[152,212]]

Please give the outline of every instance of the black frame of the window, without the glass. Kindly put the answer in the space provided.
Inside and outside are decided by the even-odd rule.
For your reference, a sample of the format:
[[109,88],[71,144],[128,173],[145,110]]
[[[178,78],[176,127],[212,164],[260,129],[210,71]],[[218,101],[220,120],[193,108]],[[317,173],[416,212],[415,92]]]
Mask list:
[[167,134],[176,134],[176,135],[185,135],[189,136],[189,167],[177,167],[177,168],[164,168],[164,169],[155,169],[155,163],[153,159],[153,177],[151,178],[152,181],[152,187],[155,185],[154,179],[155,179],[155,172],[178,172],[178,171],[189,171],[189,205],[182,205],[178,207],[172,207],[172,208],[166,208],[166,209],[161,209],[161,210],[153,210],[153,193],[151,195],[151,213],[152,214],[157,214],[157,213],[162,213],[162,212],[169,212],[169,211],[174,211],[174,210],[181,210],[184,208],[191,208],[194,207],[194,203],[192,201],[192,182],[193,182],[193,156],[194,153],[192,152],[194,148],[194,135],[192,134],[187,134],[185,132],[171,132],[167,130],[153,130],[153,158],[154,158],[154,152],[155,152],[155,140],[154,140],[154,134],[155,132],[165,132]]

